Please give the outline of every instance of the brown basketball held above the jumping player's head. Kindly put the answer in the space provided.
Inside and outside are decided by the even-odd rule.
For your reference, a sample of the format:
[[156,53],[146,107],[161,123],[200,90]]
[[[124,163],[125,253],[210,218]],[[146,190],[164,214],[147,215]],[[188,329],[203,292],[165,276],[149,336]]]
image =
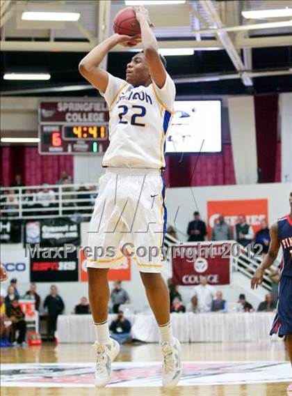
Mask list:
[[127,36],[136,36],[141,33],[140,24],[132,7],[123,8],[115,15],[113,20],[113,31]]

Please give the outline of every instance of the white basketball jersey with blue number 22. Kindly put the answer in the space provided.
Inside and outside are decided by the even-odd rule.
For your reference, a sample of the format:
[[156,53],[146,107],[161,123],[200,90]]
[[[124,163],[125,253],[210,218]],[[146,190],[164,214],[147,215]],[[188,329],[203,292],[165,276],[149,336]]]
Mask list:
[[165,139],[175,102],[175,83],[167,74],[164,86],[132,86],[108,74],[104,96],[109,112],[110,144],[104,167],[165,167]]

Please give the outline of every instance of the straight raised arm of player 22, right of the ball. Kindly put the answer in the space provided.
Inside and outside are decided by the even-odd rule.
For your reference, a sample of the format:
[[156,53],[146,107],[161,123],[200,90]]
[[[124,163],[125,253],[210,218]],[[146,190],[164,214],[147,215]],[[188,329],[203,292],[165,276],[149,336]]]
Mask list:
[[148,11],[143,6],[135,6],[136,19],[140,24],[143,51],[145,53],[150,75],[155,84],[162,88],[166,81],[166,71],[159,56],[159,46],[151,29]]

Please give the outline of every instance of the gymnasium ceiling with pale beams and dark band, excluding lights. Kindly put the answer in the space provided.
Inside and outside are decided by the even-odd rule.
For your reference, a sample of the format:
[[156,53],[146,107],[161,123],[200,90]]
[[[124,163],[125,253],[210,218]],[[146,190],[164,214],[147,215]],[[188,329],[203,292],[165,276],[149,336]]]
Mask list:
[[[112,33],[113,17],[124,6],[124,0],[1,0],[1,95],[96,96],[79,75],[78,63]],[[285,7],[292,8],[292,1],[202,0],[147,6],[159,47],[193,49],[191,55],[167,57],[177,93],[197,96],[292,91],[292,17],[248,20],[241,15],[242,10]],[[81,17],[78,22],[22,21],[24,10],[43,8],[79,12]],[[289,26],[275,27],[275,22],[287,22]],[[264,29],[260,24],[265,24]],[[105,66],[124,77],[131,56],[133,52],[117,47],[108,55]],[[51,79],[3,80],[7,72],[34,71],[50,73]]]

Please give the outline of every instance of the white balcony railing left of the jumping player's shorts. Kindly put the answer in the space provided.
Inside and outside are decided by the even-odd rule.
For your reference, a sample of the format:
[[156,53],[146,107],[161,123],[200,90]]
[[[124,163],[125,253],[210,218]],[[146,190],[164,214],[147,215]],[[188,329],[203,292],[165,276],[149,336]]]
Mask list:
[[3,220],[72,215],[88,218],[97,194],[97,183],[1,188],[1,216]]

